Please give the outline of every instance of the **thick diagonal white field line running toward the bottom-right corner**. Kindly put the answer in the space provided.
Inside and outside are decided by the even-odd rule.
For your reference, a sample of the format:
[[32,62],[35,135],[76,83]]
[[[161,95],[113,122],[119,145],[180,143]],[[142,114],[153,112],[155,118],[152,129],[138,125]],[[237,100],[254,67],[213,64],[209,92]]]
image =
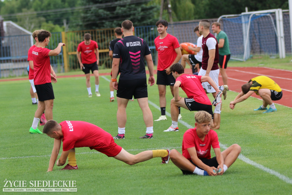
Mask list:
[[[155,107],[156,109],[160,110],[160,107],[157,106],[156,104],[154,104],[153,102],[151,102],[150,100],[148,100],[148,103],[150,105],[152,105],[153,107]],[[171,117],[171,115],[169,114],[169,112],[165,113],[167,116]],[[187,128],[194,128],[193,126],[191,126],[190,124],[187,124],[186,122],[184,122],[183,120],[178,120],[179,123],[183,124],[184,126],[186,126]],[[223,148],[224,150],[227,149],[228,147],[225,146],[224,144],[220,143],[220,147]],[[292,184],[292,179],[290,179],[289,177],[286,177],[285,175],[282,175],[280,173],[278,173],[277,171],[274,171],[272,169],[269,169],[267,167],[264,167],[263,165],[260,165],[252,160],[250,160],[249,158],[246,158],[244,155],[240,154],[238,157],[240,160],[244,161],[247,164],[250,164],[256,168],[259,168],[267,173],[270,173],[271,175],[275,175],[276,177],[278,177],[279,179],[283,180],[284,182],[288,183],[288,184]]]

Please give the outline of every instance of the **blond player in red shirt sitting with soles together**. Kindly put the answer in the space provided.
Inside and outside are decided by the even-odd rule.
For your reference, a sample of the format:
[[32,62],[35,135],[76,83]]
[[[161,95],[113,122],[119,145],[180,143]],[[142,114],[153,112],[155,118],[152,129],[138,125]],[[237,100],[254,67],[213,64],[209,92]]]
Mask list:
[[[222,175],[237,159],[241,147],[233,144],[222,153],[217,133],[210,129],[211,114],[199,111],[195,114],[195,128],[188,129],[183,135],[181,155],[173,149],[169,157],[184,175]],[[215,157],[211,158],[211,146]]]

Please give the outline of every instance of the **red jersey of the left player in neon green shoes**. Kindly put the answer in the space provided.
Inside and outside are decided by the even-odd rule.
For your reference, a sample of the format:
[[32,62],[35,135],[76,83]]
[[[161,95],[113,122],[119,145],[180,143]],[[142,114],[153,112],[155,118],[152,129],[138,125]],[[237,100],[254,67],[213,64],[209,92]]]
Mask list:
[[42,47],[35,47],[32,50],[32,61],[34,62],[34,85],[51,83],[50,51],[50,49]]

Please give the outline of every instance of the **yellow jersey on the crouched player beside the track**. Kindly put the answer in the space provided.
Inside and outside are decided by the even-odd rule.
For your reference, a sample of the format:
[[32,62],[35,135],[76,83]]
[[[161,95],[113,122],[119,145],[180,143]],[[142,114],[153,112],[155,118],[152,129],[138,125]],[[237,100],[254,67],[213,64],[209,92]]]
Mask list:
[[256,95],[258,95],[259,89],[270,89],[277,92],[282,91],[280,86],[267,76],[257,76],[249,80],[248,83],[251,81],[253,84],[251,84],[251,88],[249,88],[249,90],[254,91]]

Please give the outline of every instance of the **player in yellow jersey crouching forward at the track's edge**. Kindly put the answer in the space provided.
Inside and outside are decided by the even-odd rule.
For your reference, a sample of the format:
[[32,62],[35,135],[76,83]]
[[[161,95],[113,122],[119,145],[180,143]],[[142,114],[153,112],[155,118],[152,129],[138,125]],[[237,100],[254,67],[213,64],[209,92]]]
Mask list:
[[[253,93],[259,95],[263,98],[263,105],[258,109],[254,110],[266,110],[263,113],[276,112],[277,109],[272,102],[275,100],[280,100],[283,96],[280,86],[267,76],[257,76],[248,81],[248,83],[241,86],[241,92],[236,96],[236,98],[230,102],[229,107],[233,110],[235,104],[246,100]],[[267,105],[270,105],[269,110],[267,110]]]

